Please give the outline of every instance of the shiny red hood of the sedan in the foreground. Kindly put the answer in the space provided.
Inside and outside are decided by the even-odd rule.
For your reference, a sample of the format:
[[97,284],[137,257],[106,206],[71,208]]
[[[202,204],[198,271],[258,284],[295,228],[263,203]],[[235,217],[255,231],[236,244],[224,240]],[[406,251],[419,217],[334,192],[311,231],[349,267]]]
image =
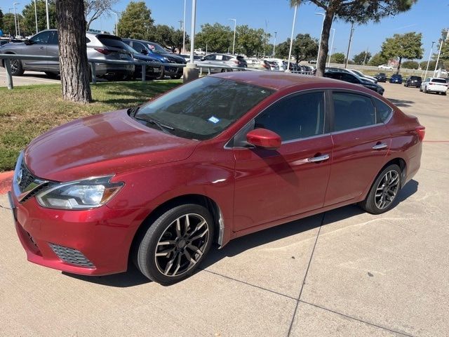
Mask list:
[[44,133],[26,148],[25,164],[39,178],[69,181],[180,161],[198,143],[144,126],[118,110]]

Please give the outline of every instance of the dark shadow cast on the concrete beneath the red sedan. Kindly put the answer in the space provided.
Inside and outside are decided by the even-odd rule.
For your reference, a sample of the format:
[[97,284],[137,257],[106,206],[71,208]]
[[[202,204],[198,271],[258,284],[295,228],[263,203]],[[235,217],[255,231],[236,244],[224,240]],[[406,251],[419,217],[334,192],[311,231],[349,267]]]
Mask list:
[[[415,194],[418,190],[418,183],[416,180],[410,180],[398,195],[398,198],[394,201],[394,207],[396,207],[402,201],[405,201],[408,197]],[[330,223],[335,223],[340,220],[352,218],[353,216],[358,216],[364,211],[358,207],[356,204],[351,204],[349,206],[341,207],[340,209],[334,209],[332,211],[332,220],[326,221],[323,219],[325,213],[319,213],[315,216],[309,216],[304,219],[290,221],[290,223],[285,223],[283,225],[275,226],[267,230],[261,230],[260,232],[255,232],[253,234],[246,235],[244,237],[239,237],[232,240],[223,249],[217,249],[213,247],[201,263],[201,270],[210,267],[222,260],[223,258],[232,258],[234,256],[247,251],[248,249],[253,249],[257,246],[262,246],[269,242],[274,242],[279,239],[290,237],[295,234],[300,234],[301,232],[306,232],[307,230],[313,230],[316,227],[322,225],[329,225]],[[324,221],[323,221],[324,220]],[[135,265],[130,261],[128,263],[128,270],[126,272],[121,272],[120,274],[105,275],[105,276],[86,276],[86,275],[75,275],[68,272],[62,272],[62,275],[67,277],[72,277],[74,279],[79,279],[86,282],[92,282],[95,284],[101,284],[104,286],[114,286],[118,288],[126,288],[130,286],[139,286],[141,284],[150,283],[149,279],[140,273],[140,271],[135,267]]]

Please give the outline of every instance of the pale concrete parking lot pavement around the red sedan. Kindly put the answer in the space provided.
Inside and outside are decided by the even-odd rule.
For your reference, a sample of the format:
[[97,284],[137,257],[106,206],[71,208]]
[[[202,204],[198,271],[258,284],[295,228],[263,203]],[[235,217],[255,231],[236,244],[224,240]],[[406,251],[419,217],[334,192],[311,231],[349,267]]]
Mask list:
[[448,336],[449,98],[381,85],[427,127],[394,209],[250,234],[174,286],[132,265],[82,277],[28,263],[0,195],[0,336]]

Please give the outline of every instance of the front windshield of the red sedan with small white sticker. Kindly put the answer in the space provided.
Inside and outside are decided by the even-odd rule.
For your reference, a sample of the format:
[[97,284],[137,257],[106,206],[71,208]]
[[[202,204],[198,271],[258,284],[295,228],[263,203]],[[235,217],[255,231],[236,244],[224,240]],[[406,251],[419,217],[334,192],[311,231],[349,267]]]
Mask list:
[[143,105],[135,118],[149,121],[148,126],[168,126],[175,136],[205,140],[217,136],[272,93],[272,89],[253,84],[203,77]]

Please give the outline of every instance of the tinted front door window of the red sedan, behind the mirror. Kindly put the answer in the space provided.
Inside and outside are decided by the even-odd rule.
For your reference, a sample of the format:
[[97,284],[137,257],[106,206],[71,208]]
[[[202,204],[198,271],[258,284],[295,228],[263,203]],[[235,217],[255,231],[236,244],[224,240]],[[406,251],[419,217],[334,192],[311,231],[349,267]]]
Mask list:
[[324,132],[324,95],[293,95],[275,103],[255,118],[255,128],[274,131],[283,141]]

